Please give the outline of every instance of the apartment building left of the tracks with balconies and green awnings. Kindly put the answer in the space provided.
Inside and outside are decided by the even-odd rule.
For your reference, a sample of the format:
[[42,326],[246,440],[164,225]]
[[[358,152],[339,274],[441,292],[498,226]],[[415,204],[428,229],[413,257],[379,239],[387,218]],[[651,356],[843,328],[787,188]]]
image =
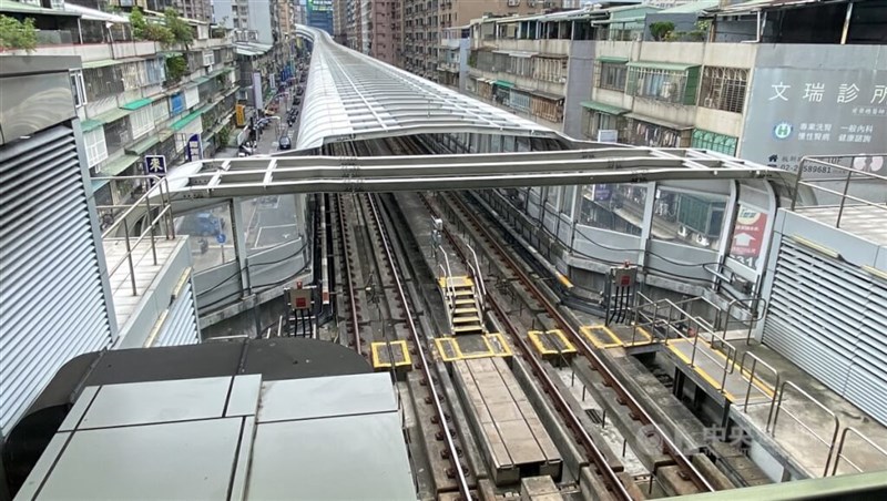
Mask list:
[[[4,9],[11,3],[17,2],[7,2]],[[211,155],[223,146],[217,135],[231,121],[237,90],[234,48],[224,30],[194,23],[194,41],[186,48],[162,47],[134,40],[123,16],[72,17],[52,9],[37,17],[3,13],[37,18],[38,28],[63,28],[54,33],[41,30],[44,35],[33,55],[72,55],[82,61],[82,68],[70,72],[70,83],[99,205],[124,204],[144,190],[140,182],[108,177],[143,174],[146,159],[163,155],[172,166],[185,160],[186,145],[193,155]],[[106,24],[116,27],[109,30],[112,37],[84,38]],[[58,43],[64,40],[74,43]]]

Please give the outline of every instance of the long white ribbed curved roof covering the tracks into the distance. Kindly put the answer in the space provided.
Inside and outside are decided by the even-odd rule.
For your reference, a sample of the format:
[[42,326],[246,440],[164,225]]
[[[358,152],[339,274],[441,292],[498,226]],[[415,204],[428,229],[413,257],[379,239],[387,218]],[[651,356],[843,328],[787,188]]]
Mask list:
[[435,132],[563,139],[558,132],[335,43],[314,42],[296,150],[340,141]]

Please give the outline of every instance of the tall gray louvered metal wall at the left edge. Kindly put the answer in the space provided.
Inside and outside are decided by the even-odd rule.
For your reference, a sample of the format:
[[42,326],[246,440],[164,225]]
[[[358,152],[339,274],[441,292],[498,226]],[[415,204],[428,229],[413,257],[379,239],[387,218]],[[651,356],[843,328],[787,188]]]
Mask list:
[[64,362],[111,342],[74,133],[0,146],[0,428]]

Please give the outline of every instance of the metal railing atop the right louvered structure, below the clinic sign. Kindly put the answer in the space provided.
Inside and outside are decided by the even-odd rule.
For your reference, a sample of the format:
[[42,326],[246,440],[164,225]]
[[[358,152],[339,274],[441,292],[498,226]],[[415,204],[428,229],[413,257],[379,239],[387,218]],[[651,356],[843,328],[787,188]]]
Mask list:
[[[828,159],[828,160],[826,160]],[[844,166],[838,165],[833,160],[849,160],[850,164],[854,166]],[[878,160],[880,159],[880,160]],[[887,159],[887,153],[879,153],[879,154],[869,154],[869,155],[833,155],[833,156],[805,156],[801,159],[801,163],[798,164],[798,175],[797,180],[795,181],[795,190],[792,200],[792,211],[796,211],[798,208],[803,208],[798,206],[801,202],[798,197],[801,196],[801,187],[807,187],[816,193],[817,198],[820,193],[832,195],[833,197],[837,198],[837,204],[823,204],[819,203],[817,200],[816,205],[817,207],[837,207],[837,216],[835,218],[835,227],[839,228],[842,223],[842,217],[844,216],[845,208],[847,207],[860,207],[860,206],[868,206],[868,207],[877,207],[885,212],[887,212],[887,176],[883,176],[879,174],[875,174],[874,172],[867,172],[866,168],[873,168],[871,164],[876,161],[884,162],[883,159]],[[859,164],[859,160],[863,162]],[[866,164],[868,162],[868,165]],[[857,165],[859,164],[859,165]],[[818,168],[817,168],[818,167]],[[804,180],[805,172],[817,172],[822,168],[828,168],[832,171],[836,171],[839,175],[837,177],[817,177],[815,180]],[[871,190],[873,193],[878,193],[880,196],[884,196],[883,200],[866,200],[859,196],[850,195],[850,186],[853,182],[865,181],[870,184],[877,184],[883,186],[881,190]],[[829,183],[829,184],[837,184],[837,186],[833,187],[825,187],[822,184]],[[848,203],[850,201],[850,203]]]

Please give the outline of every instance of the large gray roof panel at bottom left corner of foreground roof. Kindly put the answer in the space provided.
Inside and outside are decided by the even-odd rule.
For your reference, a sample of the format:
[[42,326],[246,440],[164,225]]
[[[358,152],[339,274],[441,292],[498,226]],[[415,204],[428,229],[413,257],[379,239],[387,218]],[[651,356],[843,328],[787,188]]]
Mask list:
[[77,431],[37,499],[227,499],[242,421]]

